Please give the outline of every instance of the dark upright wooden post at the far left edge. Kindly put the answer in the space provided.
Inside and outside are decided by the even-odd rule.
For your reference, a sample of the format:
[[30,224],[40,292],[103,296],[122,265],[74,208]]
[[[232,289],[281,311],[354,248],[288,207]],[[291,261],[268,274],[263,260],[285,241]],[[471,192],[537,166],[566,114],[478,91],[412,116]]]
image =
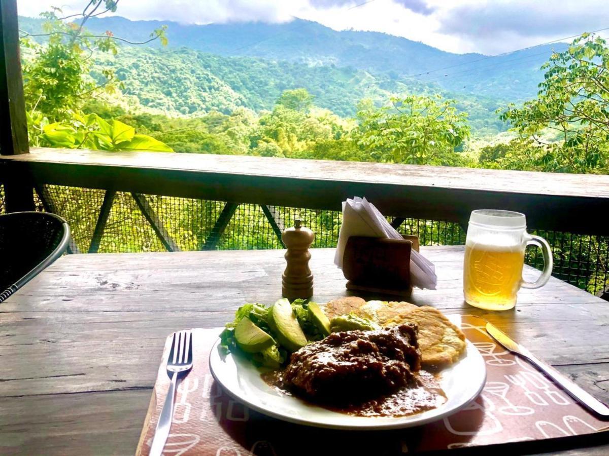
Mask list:
[[[0,119],[0,154],[28,153],[16,0],[0,0]],[[3,171],[7,212],[34,210],[29,176]]]

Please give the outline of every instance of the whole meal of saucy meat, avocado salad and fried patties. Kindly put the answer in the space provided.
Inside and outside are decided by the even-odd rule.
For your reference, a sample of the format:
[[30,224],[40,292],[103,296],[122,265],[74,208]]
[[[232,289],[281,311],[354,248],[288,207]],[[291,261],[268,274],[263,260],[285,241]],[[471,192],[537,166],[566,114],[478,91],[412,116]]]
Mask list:
[[465,336],[437,309],[356,297],[248,303],[220,339],[224,353],[266,368],[261,375],[276,389],[362,416],[439,406],[446,396],[429,371],[465,351]]

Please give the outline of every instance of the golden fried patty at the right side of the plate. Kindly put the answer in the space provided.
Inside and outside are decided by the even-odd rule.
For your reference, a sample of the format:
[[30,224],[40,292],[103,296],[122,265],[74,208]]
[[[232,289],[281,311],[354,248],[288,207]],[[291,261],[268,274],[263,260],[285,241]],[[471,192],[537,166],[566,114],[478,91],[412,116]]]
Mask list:
[[446,316],[430,306],[417,307],[385,322],[385,325],[415,323],[417,339],[426,367],[443,368],[456,362],[465,351],[465,334]]

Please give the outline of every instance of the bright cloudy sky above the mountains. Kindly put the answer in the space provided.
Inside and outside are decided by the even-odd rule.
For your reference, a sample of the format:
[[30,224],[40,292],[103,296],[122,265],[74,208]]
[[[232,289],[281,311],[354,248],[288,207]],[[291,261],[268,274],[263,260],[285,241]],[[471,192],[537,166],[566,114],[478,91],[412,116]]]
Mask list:
[[[19,14],[50,5],[65,13],[86,0],[17,0]],[[336,30],[371,30],[449,52],[499,54],[609,27],[607,0],[119,0],[129,19],[186,23],[289,22],[294,17]],[[600,32],[609,37],[609,30]]]

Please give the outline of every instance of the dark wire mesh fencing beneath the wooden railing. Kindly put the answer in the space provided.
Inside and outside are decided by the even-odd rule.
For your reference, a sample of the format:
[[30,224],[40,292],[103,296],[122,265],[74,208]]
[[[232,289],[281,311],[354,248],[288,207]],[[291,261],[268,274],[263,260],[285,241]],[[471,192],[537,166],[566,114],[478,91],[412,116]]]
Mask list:
[[[71,226],[74,243],[87,252],[96,230],[105,191],[90,188],[45,185],[36,195],[38,210],[63,216]],[[176,249],[280,249],[278,232],[300,218],[315,232],[313,247],[336,247],[342,213],[295,207],[267,207],[221,201],[141,195],[148,205],[148,217],[161,227]],[[4,193],[0,187],[0,213],[4,212]],[[392,218],[388,217],[389,220]],[[274,227],[273,227],[274,224]],[[421,245],[465,243],[466,232],[460,224],[443,221],[404,219],[403,234],[417,235]],[[609,286],[609,237],[532,230],[551,244],[555,277],[590,292]],[[161,252],[166,250],[157,232],[130,193],[117,192],[108,213],[100,253]],[[526,262],[543,268],[539,249],[528,249]]]

